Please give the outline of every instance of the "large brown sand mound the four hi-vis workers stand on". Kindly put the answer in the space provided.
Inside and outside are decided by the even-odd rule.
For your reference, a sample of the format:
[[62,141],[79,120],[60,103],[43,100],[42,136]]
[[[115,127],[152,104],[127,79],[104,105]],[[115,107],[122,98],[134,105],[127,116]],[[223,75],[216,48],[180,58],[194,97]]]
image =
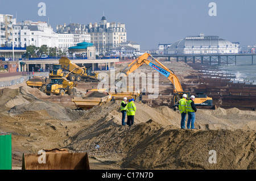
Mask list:
[[[253,111],[199,110],[200,129],[184,131],[179,129],[179,112],[166,106],[136,105],[135,126],[131,128],[121,126],[119,102],[95,107],[89,111],[90,115],[96,113],[91,118],[93,124],[67,140],[67,147],[126,169],[256,169]],[[229,119],[230,115],[247,113],[253,121]],[[82,117],[86,118],[88,115]],[[218,164],[209,163],[210,150],[216,151]]]

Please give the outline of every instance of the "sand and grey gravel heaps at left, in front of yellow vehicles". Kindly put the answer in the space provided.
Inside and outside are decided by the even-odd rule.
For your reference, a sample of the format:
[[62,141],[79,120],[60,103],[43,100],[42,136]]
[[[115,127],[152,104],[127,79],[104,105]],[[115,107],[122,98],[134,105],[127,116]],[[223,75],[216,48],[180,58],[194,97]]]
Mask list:
[[59,104],[49,101],[43,101],[36,97],[47,96],[38,89],[31,87],[19,87],[18,89],[1,89],[0,106],[8,111],[10,116],[22,115],[26,112],[36,113],[44,112],[38,119],[59,119],[63,121],[72,121],[80,119],[86,111],[71,110]]

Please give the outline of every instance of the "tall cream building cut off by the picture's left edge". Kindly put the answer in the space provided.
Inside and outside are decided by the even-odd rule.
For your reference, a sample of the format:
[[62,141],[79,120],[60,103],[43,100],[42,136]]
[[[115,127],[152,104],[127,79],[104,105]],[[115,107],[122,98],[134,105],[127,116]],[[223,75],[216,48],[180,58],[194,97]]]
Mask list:
[[11,46],[13,40],[13,24],[16,19],[13,15],[0,14],[0,47]]

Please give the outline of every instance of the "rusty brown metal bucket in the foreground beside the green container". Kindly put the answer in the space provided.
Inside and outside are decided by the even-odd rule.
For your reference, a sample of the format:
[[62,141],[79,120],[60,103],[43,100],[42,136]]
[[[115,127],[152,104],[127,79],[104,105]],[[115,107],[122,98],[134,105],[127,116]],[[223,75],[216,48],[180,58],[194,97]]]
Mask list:
[[89,170],[88,153],[69,153],[67,149],[23,153],[22,170]]

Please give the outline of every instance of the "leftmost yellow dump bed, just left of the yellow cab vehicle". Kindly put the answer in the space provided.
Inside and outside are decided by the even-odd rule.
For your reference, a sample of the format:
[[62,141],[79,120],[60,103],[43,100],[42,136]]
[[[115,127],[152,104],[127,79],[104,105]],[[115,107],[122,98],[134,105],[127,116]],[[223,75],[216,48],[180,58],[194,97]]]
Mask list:
[[46,92],[46,85],[50,82],[50,79],[47,79],[46,77],[33,77],[30,80],[28,80],[27,86],[30,86],[32,88],[38,88],[42,92]]

